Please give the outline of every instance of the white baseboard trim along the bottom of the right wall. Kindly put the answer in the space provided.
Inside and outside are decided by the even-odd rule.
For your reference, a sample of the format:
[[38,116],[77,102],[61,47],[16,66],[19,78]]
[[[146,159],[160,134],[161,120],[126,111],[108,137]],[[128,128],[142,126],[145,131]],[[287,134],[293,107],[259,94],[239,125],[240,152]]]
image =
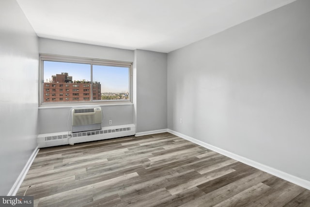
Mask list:
[[255,168],[257,168],[259,170],[262,170],[262,171],[264,171],[266,173],[269,173],[271,175],[275,175],[275,176],[277,176],[279,178],[282,178],[284,180],[287,180],[287,181],[289,181],[291,183],[294,183],[294,184],[296,184],[298,186],[301,186],[303,188],[306,188],[306,189],[310,190],[310,181],[308,181],[308,180],[296,177],[294,175],[290,175],[288,173],[285,173],[283,171],[280,171],[280,170],[277,170],[275,168],[269,167],[269,166],[264,165],[262,163],[256,162],[254,160],[251,160],[251,159],[248,159],[248,158],[245,158],[245,157],[242,157],[240,155],[236,155],[236,154],[234,154],[232,152],[226,151],[224,149],[218,148],[218,147],[213,146],[213,145],[208,144],[208,143],[204,143],[204,142],[202,142],[200,140],[197,140],[197,139],[194,139],[192,137],[186,136],[186,135],[184,135],[182,133],[173,131],[171,129],[168,129],[168,132],[171,133],[171,134],[174,134],[174,135],[176,135],[178,137],[181,137],[183,139],[186,139],[186,140],[188,140],[188,141],[190,141],[192,143],[199,144],[199,145],[201,145],[201,146],[203,146],[205,148],[211,149],[211,150],[213,150],[213,151],[215,151],[215,152],[217,152],[219,154],[225,155],[225,156],[227,156],[229,158],[235,159],[235,160],[240,161],[242,163],[245,163],[245,164],[247,164],[249,166],[255,167]]

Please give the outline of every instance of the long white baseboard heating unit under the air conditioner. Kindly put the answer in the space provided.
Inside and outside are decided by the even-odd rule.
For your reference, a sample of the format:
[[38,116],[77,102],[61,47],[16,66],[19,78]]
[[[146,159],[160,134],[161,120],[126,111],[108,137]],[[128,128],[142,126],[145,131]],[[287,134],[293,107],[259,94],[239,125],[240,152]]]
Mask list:
[[83,143],[96,140],[105,140],[111,138],[125,137],[135,135],[136,126],[120,125],[113,127],[102,127],[98,130],[82,132],[58,132],[38,135],[38,147],[58,146],[65,144]]

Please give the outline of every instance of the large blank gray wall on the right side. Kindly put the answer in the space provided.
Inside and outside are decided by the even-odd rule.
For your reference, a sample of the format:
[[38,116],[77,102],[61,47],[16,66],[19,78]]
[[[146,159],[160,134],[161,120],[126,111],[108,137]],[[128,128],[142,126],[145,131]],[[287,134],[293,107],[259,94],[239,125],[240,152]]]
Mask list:
[[168,127],[310,180],[309,8],[297,0],[169,53]]

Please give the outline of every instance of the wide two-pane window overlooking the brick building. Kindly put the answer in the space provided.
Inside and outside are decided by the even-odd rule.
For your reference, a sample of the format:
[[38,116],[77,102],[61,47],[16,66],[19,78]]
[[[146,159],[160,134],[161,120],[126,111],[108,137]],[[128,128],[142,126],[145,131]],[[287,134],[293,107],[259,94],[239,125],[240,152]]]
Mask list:
[[[76,58],[56,55],[40,55],[40,97],[41,105],[51,103],[43,93],[52,96],[63,96],[60,87],[66,87],[66,98],[52,98],[54,102],[73,105],[78,102],[128,103],[131,102],[132,63],[106,61],[87,58]],[[41,84],[42,82],[42,84]],[[79,88],[83,88],[83,96],[79,96]],[[57,90],[56,90],[57,89]],[[72,89],[72,92],[70,92]],[[81,95],[81,94],[80,94]]]

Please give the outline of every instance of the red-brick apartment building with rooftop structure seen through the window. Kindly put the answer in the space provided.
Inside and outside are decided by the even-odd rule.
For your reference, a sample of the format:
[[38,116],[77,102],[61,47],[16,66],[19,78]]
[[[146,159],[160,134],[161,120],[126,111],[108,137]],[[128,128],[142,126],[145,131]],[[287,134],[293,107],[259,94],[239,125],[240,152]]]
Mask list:
[[[56,74],[50,82],[44,83],[43,93],[44,102],[90,101],[91,82],[72,81],[68,73]],[[100,82],[93,82],[93,100],[101,100]]]

